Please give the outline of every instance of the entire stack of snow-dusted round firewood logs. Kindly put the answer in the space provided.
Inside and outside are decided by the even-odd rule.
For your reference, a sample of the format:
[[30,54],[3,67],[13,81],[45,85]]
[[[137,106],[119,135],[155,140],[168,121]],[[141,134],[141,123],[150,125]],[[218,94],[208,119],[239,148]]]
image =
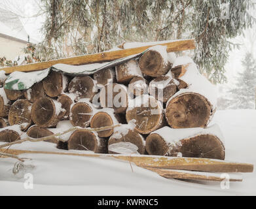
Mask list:
[[26,91],[0,88],[0,141],[80,127],[61,136],[65,142],[55,137],[48,142],[96,153],[224,159],[219,127],[207,127],[215,112],[214,91],[191,58],[153,46],[90,76],[51,71]]

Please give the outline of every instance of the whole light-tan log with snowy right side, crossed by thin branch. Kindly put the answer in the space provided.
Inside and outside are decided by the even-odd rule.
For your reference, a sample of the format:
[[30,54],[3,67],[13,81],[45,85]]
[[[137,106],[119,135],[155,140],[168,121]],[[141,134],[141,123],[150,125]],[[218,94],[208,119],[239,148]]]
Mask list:
[[[107,108],[108,109],[108,108]],[[119,123],[116,116],[113,114],[113,111],[111,109],[106,110],[100,110],[100,112],[97,112],[92,117],[92,120],[90,121],[90,127],[91,128],[100,128],[100,127],[107,127],[111,125],[116,125]],[[113,128],[106,129],[104,131],[98,131],[99,137],[110,137],[113,134]]]

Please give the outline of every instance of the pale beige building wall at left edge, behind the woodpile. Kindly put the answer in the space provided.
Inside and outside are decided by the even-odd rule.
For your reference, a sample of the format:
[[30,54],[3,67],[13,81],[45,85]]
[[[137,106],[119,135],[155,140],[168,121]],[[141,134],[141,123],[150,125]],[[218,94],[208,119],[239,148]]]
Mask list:
[[26,43],[0,37],[0,57],[5,56],[8,60],[14,60],[19,55],[24,54],[22,48],[25,46]]

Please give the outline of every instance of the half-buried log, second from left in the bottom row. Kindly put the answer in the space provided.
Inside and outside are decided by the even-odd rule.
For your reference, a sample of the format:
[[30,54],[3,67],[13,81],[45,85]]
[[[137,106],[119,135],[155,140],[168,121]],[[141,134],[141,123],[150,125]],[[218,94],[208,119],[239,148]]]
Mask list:
[[[52,133],[52,131],[49,131],[46,128],[39,127],[37,125],[34,125],[27,130],[27,136],[31,138],[42,138],[42,137],[48,137],[50,135],[54,135],[54,133]],[[51,139],[45,140],[45,142],[57,143],[58,140],[52,137]]]

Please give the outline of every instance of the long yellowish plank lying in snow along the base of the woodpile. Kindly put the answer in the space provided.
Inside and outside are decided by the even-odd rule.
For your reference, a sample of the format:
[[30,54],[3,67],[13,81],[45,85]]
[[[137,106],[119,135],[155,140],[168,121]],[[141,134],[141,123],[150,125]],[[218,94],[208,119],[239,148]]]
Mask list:
[[115,155],[96,153],[71,153],[71,152],[41,152],[30,150],[7,150],[0,149],[0,152],[20,155],[23,153],[43,153],[57,155],[73,155],[81,157],[113,157],[115,159],[135,163],[139,167],[158,169],[194,170],[202,172],[253,172],[253,165],[249,163],[234,163],[208,158],[196,157],[164,157],[151,155]]

